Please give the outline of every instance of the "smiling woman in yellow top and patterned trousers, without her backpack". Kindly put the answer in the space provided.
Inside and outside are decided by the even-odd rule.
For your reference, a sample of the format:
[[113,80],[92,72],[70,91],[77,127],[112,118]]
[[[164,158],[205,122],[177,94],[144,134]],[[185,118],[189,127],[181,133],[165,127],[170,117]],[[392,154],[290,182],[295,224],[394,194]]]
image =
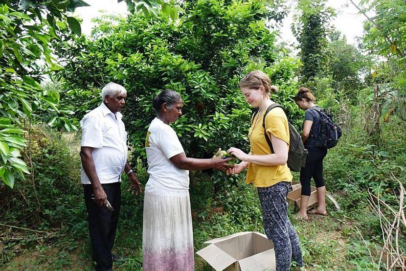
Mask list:
[[250,152],[237,148],[227,152],[242,162],[234,165],[227,174],[238,174],[248,167],[247,183],[257,187],[264,220],[265,233],[274,243],[276,270],[289,271],[292,260],[303,266],[299,238],[288,218],[286,197],[291,187],[292,174],[286,161],[289,151],[288,119],[281,108],[272,109],[265,118],[265,129],[271,138],[274,153],[265,139],[262,126],[264,112],[273,103],[270,93],[277,87],[264,72],[254,70],[241,81],[240,88],[246,101],[259,109],[252,119],[248,132]]

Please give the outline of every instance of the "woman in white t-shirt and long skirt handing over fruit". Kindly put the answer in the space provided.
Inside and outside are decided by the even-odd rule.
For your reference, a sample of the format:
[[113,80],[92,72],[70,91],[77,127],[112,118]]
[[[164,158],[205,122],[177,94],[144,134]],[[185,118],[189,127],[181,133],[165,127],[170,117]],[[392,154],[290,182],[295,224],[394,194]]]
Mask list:
[[145,139],[149,179],[145,186],[142,227],[144,271],[194,270],[189,171],[226,170],[230,159],[186,157],[169,126],[182,114],[179,93],[163,90],[153,99],[157,116]]

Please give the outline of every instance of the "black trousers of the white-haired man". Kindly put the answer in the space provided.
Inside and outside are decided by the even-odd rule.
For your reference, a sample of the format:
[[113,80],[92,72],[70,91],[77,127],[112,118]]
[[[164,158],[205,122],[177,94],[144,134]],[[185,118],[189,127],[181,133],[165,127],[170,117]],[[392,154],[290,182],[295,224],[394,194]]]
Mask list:
[[91,184],[83,185],[86,209],[89,216],[89,233],[93,261],[96,262],[97,271],[112,269],[112,248],[121,205],[120,182],[102,184],[102,187],[114,211],[109,210],[106,206],[99,206],[94,203],[91,199],[93,195]]

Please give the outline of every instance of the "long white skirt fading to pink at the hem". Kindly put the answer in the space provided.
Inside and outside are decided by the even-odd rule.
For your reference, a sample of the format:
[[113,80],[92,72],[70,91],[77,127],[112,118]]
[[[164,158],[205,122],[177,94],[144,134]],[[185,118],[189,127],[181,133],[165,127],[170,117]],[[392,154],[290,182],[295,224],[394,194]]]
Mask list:
[[142,268],[193,271],[193,228],[189,192],[148,184],[144,195]]

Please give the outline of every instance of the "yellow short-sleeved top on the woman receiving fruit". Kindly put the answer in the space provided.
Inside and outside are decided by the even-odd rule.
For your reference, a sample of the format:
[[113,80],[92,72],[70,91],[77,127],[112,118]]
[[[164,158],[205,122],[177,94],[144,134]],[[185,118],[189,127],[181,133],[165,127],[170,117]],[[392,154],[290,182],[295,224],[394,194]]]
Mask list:
[[[252,155],[271,154],[271,149],[264,135],[263,119],[263,115],[257,114],[252,121],[251,128],[249,128],[248,137]],[[288,119],[282,108],[274,108],[267,114],[265,128],[269,138],[273,134],[273,136],[289,144]],[[256,187],[268,187],[279,181],[292,181],[292,179],[293,176],[287,164],[263,166],[249,163],[248,165],[247,183],[253,183]]]

